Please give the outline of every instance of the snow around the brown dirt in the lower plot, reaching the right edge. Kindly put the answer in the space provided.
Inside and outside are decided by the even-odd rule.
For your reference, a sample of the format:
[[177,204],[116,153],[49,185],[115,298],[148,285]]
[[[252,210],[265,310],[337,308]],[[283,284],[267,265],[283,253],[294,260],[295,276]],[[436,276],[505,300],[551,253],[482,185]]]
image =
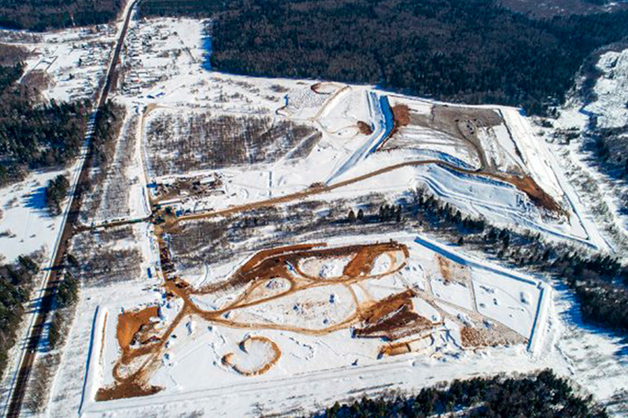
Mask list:
[[[143,234],[150,237],[149,231]],[[68,368],[62,368],[62,373],[67,377],[60,376],[55,381],[51,416],[71,416],[77,410],[86,417],[179,416],[194,412],[233,417],[259,416],[261,413],[299,415],[363,393],[387,389],[413,391],[454,378],[525,372],[543,367],[552,367],[559,374],[570,376],[603,402],[610,403],[613,396],[628,389],[623,379],[628,364],[617,356],[616,341],[596,330],[566,325],[573,324],[574,308],[564,290],[551,291],[547,284],[534,278],[475,259],[461,253],[457,247],[448,247],[411,233],[371,236],[368,240],[391,238],[410,247],[410,259],[395,278],[367,286],[373,297],[385,297],[408,285],[425,287],[428,278],[432,283],[443,283],[439,265],[446,259],[450,271],[456,271],[456,280],[470,279],[468,284],[472,283],[479,311],[531,336],[529,343],[461,350],[456,343],[459,338],[456,337],[456,325],[446,321],[444,329],[453,328],[447,334],[437,336],[432,343],[413,343],[413,353],[378,359],[381,343],[352,338],[349,330],[324,336],[271,329],[247,331],[191,317],[184,319],[174,331],[176,339],[170,341],[167,354],[151,379],[151,384],[164,387],[163,391],[149,397],[95,402],[95,391],[111,382],[108,370],[118,355],[117,314],[123,309],[157,304],[161,306],[160,317],[168,321],[180,309],[180,305],[161,298],[154,287],[158,281],[145,276],[139,282],[119,283],[107,292],[102,289],[86,291],[89,293],[81,299],[81,314],[71,335],[71,353],[64,357]],[[343,237],[333,240],[330,245],[355,244],[360,240],[364,237]],[[332,261],[331,269],[336,262]],[[447,295],[443,296],[442,302],[438,302],[441,299],[436,296],[436,301],[439,307],[442,303],[441,312],[464,321],[471,315],[470,288],[465,289],[459,283],[442,284]],[[342,303],[342,293],[333,287],[323,292],[324,299],[328,300],[329,292],[332,292],[336,295],[335,303]],[[454,287],[459,290],[454,291]],[[458,291],[465,291],[466,296],[462,299],[450,296]],[[418,300],[423,299],[419,297]],[[434,321],[443,318],[442,313],[425,302],[415,301],[414,306]],[[272,312],[272,307],[267,307],[257,314],[272,320]],[[285,319],[283,316],[276,318]],[[237,351],[237,344],[249,336],[268,338],[282,351],[279,361],[264,375],[243,376],[221,362],[225,354]],[[264,360],[248,358],[246,364],[260,361]],[[593,367],[601,365],[606,371],[605,378],[600,378]],[[85,378],[71,379],[71,375]]]

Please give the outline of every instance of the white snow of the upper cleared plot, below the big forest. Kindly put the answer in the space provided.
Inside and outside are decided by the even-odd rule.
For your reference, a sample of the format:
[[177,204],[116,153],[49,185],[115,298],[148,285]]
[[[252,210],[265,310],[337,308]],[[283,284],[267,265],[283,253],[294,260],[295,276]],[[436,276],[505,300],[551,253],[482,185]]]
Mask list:
[[[139,135],[145,161],[148,145],[162,140],[152,128],[156,120],[189,118],[197,111],[284,118],[318,129],[322,138],[311,152],[298,158],[286,155],[260,164],[200,172],[181,167],[180,175],[169,176],[159,175],[153,167],[147,166],[146,182],[149,184],[172,182],[182,176],[220,177],[221,186],[216,193],[171,198],[170,202],[181,213],[219,210],[285,196],[315,184],[333,185],[408,161],[439,160],[463,168],[478,166],[477,155],[468,146],[460,146],[437,131],[414,126],[408,127],[409,133],[401,130],[402,135],[410,135],[406,143],[418,143],[408,147],[408,152],[403,147],[374,152],[391,129],[389,98],[395,104],[406,104],[413,111],[425,113],[429,113],[435,102],[389,95],[369,86],[208,72],[203,67],[206,60],[202,49],[204,24],[187,19],[160,19],[142,21],[130,29],[126,64],[134,70],[125,76],[124,94],[119,100],[135,109],[144,109]],[[172,36],[166,36],[168,34]],[[577,195],[562,173],[557,172],[555,158],[547,144],[536,135],[520,111],[503,106],[468,108],[492,109],[503,118],[500,126],[480,133],[481,141],[487,145],[487,157],[504,172],[529,173],[561,204],[566,216],[546,216],[524,193],[507,183],[464,176],[435,165],[395,170],[337,189],[333,196],[345,192],[354,194],[358,189],[396,193],[427,186],[450,204],[497,224],[517,223],[548,238],[608,248],[589,222],[585,208],[577,204]],[[370,126],[370,133],[361,133],[358,122]],[[430,140],[426,143],[428,137]],[[176,147],[172,155],[176,161]],[[153,198],[157,200],[156,196]]]

